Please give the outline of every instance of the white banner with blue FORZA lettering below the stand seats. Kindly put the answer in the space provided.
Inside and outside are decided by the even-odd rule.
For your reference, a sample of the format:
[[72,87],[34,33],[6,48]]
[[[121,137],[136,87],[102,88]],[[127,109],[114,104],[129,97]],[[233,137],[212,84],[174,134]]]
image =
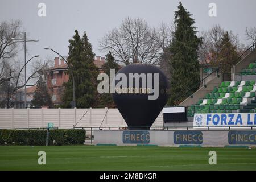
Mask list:
[[256,113],[195,114],[193,127],[252,127]]

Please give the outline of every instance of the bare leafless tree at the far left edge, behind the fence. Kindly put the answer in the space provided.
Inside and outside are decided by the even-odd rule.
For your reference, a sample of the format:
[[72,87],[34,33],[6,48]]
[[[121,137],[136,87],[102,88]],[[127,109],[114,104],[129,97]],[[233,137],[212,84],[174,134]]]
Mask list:
[[2,107],[12,107],[16,92],[25,85],[35,85],[38,77],[47,67],[47,61],[36,61],[26,83],[22,81],[24,64],[23,61],[16,60],[18,44],[12,40],[12,38],[19,38],[21,28],[22,23],[19,20],[0,23],[0,103]]

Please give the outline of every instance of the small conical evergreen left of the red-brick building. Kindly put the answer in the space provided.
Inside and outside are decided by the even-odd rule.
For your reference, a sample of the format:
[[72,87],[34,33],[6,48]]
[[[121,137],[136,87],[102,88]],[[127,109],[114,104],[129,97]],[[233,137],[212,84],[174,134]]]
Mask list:
[[40,76],[36,85],[36,90],[34,93],[33,100],[31,104],[35,107],[49,106],[52,107],[51,96],[47,92],[46,82],[44,82],[43,78]]

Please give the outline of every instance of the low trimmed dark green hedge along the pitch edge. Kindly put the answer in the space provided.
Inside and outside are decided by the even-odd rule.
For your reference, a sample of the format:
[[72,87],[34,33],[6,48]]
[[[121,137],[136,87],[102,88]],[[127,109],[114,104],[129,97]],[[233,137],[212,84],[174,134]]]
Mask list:
[[[85,130],[49,130],[49,145],[83,144]],[[0,145],[46,145],[46,130],[0,130]]]

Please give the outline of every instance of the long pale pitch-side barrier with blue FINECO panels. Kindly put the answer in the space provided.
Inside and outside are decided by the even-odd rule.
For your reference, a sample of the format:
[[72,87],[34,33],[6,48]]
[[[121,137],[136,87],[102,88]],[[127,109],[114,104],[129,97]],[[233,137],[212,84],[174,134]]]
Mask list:
[[[93,128],[93,127],[92,127]],[[143,127],[144,128],[144,127]],[[256,147],[256,127],[150,127],[136,130],[104,127],[93,130],[93,144],[158,146]]]

